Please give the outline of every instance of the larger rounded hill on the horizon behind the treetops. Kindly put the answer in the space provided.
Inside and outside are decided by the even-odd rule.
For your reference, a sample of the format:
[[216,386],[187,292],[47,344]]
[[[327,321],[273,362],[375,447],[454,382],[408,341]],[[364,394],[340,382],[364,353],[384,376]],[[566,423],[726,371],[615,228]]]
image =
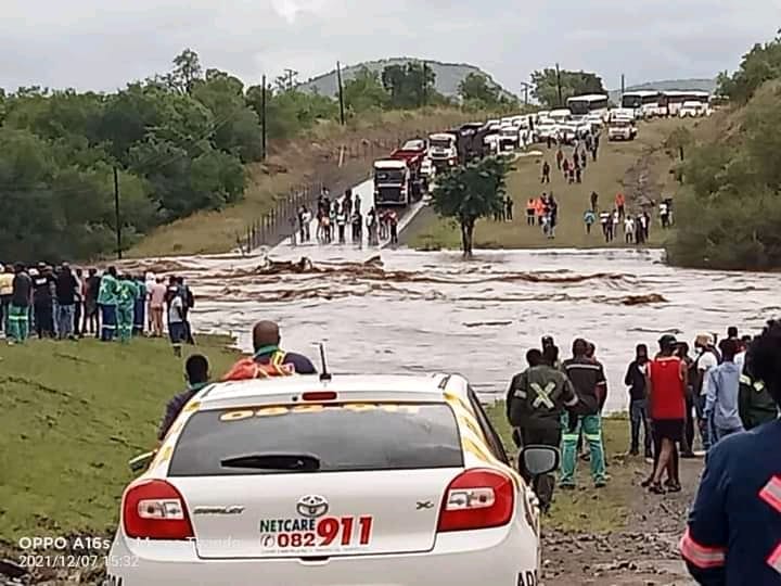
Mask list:
[[[369,67],[373,72],[382,74],[382,71],[388,65],[406,65],[411,61],[420,63],[425,62],[426,66],[432,68],[432,71],[436,74],[435,89],[444,95],[450,98],[457,95],[459,84],[461,84],[461,81],[471,73],[484,75],[490,84],[499,88],[503,93],[508,95],[511,94],[511,92],[502,88],[490,74],[484,72],[475,65],[470,65],[469,63],[443,63],[440,61],[415,58],[381,59],[376,61],[366,61],[356,65],[342,66],[342,80],[344,82],[347,79],[351,79],[355,77],[356,73],[364,66]],[[328,97],[335,95],[338,91],[336,69],[312,77],[311,79],[299,84],[298,89],[303,91],[317,91],[322,95]]]

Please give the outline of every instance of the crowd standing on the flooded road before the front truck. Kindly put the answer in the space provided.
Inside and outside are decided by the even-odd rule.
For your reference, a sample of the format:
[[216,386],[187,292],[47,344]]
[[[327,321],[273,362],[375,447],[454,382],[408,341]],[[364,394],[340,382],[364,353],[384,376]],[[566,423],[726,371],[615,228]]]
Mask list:
[[[315,220],[315,221],[313,221]],[[353,244],[379,246],[381,240],[389,240],[392,245],[398,244],[398,214],[393,209],[377,211],[371,207],[361,213],[361,199],[348,189],[338,199],[332,199],[328,189],[323,189],[317,201],[316,214],[312,216],[308,206],[302,205],[296,215],[291,217],[291,235],[293,244],[309,243],[312,240],[311,226],[316,226],[315,239],[319,244]]]

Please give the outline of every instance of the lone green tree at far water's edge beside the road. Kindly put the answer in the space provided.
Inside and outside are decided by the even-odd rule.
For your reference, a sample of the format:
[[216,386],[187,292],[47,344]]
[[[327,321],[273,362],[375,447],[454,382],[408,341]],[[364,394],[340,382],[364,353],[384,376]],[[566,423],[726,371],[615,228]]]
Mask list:
[[502,211],[507,175],[511,170],[512,163],[508,158],[487,157],[456,168],[437,180],[432,204],[439,216],[458,222],[465,258],[472,256],[477,220]]

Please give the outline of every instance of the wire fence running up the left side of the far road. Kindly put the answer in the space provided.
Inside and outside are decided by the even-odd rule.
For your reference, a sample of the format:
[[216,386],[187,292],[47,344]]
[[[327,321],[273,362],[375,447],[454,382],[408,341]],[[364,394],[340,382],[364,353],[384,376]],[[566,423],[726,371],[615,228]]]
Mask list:
[[[249,254],[261,246],[276,246],[296,231],[298,211],[302,206],[311,208],[324,188],[336,195],[336,188],[347,189],[357,182],[355,181],[356,167],[360,168],[364,165],[363,171],[368,177],[371,169],[369,164],[372,161],[389,155],[394,149],[400,148],[405,141],[413,137],[425,138],[434,131],[436,130],[419,128],[407,136],[397,135],[382,139],[356,140],[324,153],[322,156],[324,170],[319,174],[319,177],[308,183],[296,186],[287,193],[279,194],[274,205],[266,214],[248,222],[244,233],[236,234],[238,250],[242,254]],[[348,165],[353,167],[354,175],[351,176],[348,176],[345,169]],[[342,187],[341,183],[345,182],[345,177],[347,177],[347,183],[350,184]]]

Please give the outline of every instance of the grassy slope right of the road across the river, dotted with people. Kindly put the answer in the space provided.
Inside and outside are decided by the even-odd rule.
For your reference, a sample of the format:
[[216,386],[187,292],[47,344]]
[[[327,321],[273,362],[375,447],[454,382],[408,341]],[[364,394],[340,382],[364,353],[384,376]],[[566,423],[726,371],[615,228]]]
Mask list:
[[[555,149],[550,151],[541,145],[543,156],[522,157],[515,163],[515,170],[508,178],[508,191],[515,203],[512,222],[479,220],[475,231],[475,249],[541,249],[541,247],[603,247],[604,238],[599,226],[591,234],[586,233],[584,212],[589,206],[592,191],[599,193],[600,207],[611,206],[616,193],[624,191],[631,212],[639,199],[645,196],[658,200],[676,190],[670,169],[675,162],[665,153],[663,143],[670,132],[682,123],[677,118],[653,120],[639,125],[638,138],[631,142],[609,142],[600,144],[599,160],[591,160],[584,173],[582,183],[568,184],[555,168]],[[535,146],[536,149],[537,146]],[[572,149],[565,148],[572,156]],[[540,184],[542,160],[551,164],[551,183]],[[555,240],[549,240],[539,227],[526,226],[526,202],[543,191],[553,192],[559,202],[559,225]],[[657,225],[658,217],[653,221]],[[660,246],[667,234],[652,225],[650,246]],[[438,218],[432,209],[425,209],[402,234],[410,246],[423,250],[458,249],[460,231],[450,221]],[[623,227],[619,238],[610,246],[625,246]]]

